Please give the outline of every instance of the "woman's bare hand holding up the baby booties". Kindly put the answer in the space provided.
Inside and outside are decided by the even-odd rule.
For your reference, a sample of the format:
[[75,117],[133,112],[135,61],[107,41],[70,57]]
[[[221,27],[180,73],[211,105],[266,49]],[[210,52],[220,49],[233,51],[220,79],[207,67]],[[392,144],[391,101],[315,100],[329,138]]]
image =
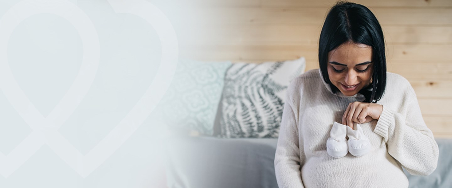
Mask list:
[[342,124],[353,128],[354,123],[363,124],[379,119],[382,111],[383,106],[376,103],[351,102],[342,116]]

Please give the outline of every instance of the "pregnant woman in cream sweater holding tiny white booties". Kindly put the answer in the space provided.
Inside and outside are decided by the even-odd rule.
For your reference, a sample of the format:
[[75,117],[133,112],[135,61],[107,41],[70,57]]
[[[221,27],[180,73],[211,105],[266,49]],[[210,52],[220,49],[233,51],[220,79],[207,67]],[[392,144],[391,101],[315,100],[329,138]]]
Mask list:
[[363,5],[330,9],[320,69],[287,88],[275,174],[279,188],[407,188],[402,167],[431,174],[438,145],[410,83],[386,72],[381,26]]

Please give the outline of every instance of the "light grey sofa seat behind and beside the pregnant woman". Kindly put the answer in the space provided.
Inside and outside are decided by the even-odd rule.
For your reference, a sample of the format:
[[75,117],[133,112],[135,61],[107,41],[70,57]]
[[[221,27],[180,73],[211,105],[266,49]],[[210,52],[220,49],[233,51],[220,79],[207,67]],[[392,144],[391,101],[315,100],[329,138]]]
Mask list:
[[[452,188],[452,139],[436,139],[437,169],[429,176],[405,171],[410,188]],[[169,188],[278,188],[277,138],[170,137],[165,141]]]

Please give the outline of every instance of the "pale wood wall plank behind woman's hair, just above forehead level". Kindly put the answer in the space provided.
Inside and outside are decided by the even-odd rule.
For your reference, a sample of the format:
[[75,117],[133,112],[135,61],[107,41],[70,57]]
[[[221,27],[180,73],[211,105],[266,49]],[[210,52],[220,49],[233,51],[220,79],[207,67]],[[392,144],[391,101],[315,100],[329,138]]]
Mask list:
[[[316,45],[320,26],[237,25],[184,29],[187,45]],[[452,26],[383,27],[388,44],[452,44]]]

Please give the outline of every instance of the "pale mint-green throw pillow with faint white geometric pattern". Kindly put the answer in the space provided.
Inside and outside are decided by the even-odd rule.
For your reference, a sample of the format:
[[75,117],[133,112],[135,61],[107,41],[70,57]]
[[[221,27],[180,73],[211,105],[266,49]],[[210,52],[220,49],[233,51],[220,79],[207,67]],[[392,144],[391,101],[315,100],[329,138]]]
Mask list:
[[231,64],[180,59],[170,88],[155,109],[159,122],[172,133],[212,136],[224,76]]

